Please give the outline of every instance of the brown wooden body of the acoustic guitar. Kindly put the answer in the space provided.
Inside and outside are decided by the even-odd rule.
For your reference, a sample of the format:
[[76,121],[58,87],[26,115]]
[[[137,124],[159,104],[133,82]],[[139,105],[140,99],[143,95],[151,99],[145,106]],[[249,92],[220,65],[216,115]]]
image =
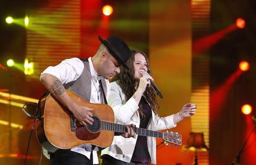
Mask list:
[[[114,132],[100,129],[100,121],[114,122],[114,113],[107,104],[93,104],[82,99],[71,91],[68,95],[78,105],[94,108],[93,125],[96,130],[88,129],[86,126],[76,124],[76,129],[71,129],[71,113],[65,109],[51,95],[46,96],[40,101],[40,119],[36,121],[36,136],[44,149],[54,153],[57,149],[71,149],[73,147],[92,144],[99,147],[108,147],[111,145]],[[96,118],[94,118],[96,117]]]

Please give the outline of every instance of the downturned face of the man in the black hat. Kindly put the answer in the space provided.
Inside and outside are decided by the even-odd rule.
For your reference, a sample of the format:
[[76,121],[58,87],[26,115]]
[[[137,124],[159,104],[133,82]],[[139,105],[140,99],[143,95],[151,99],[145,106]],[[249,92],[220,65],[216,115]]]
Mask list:
[[120,64],[109,52],[104,53],[106,54],[105,57],[102,58],[103,64],[101,69],[101,76],[105,79],[109,79],[120,72]]

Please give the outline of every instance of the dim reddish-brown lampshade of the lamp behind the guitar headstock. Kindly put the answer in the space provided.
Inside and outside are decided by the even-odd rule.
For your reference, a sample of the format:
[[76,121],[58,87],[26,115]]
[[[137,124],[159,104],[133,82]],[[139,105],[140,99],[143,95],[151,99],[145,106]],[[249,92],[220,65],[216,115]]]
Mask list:
[[191,132],[189,133],[187,144],[184,146],[185,149],[190,147],[195,147],[196,149],[207,149],[207,145],[205,145],[204,141],[204,133],[196,133]]

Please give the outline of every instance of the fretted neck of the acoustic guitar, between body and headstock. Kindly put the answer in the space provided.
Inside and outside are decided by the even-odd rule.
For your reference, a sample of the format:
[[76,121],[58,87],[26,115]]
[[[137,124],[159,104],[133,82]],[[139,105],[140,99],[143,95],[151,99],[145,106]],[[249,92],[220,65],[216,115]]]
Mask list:
[[[125,133],[125,125],[115,124],[113,122],[101,121],[101,129],[102,130],[110,130],[119,133]],[[162,132],[156,132],[154,130],[148,130],[144,128],[135,127],[135,133],[139,136],[148,136],[148,137],[158,137],[163,138]]]

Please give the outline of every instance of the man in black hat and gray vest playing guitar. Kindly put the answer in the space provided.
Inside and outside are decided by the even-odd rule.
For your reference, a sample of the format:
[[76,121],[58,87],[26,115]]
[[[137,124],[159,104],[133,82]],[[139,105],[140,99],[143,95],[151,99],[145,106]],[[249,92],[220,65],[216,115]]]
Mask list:
[[[90,103],[106,103],[110,93],[108,79],[119,73],[119,66],[126,66],[130,49],[120,37],[112,35],[102,39],[96,54],[88,59],[71,58],[59,65],[49,66],[40,76],[40,81],[51,95],[67,108],[76,121],[92,125],[90,107],[81,107],[72,100],[65,89],[75,92]],[[132,127],[127,127],[124,137],[135,137]],[[57,150],[51,156],[52,164],[98,164],[97,147],[82,145],[71,150]]]

